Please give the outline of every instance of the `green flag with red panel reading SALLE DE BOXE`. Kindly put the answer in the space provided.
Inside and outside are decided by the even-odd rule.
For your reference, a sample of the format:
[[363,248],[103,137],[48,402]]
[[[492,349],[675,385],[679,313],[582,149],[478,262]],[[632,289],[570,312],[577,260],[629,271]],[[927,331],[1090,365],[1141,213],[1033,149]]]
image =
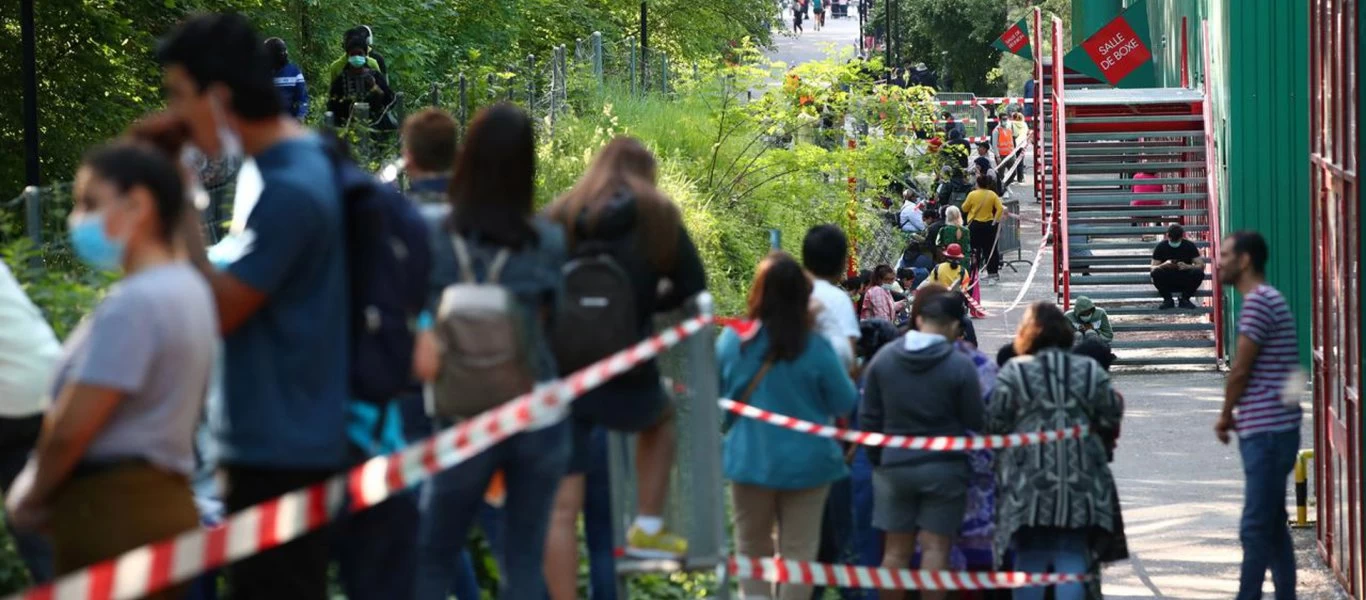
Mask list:
[[1072,48],[1063,64],[1115,87],[1153,87],[1157,85],[1157,68],[1152,48],[1147,0],[1138,0]]

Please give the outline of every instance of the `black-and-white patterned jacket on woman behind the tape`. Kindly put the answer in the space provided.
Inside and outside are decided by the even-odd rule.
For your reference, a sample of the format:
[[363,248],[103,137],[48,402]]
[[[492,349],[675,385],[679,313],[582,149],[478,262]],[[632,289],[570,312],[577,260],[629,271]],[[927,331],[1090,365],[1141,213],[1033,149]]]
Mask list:
[[997,452],[997,563],[1020,528],[1087,529],[1093,545],[1112,533],[1119,499],[1094,431],[1115,429],[1121,417],[1109,374],[1087,357],[1046,349],[1001,369],[988,403],[989,433],[1089,425],[1093,435]]

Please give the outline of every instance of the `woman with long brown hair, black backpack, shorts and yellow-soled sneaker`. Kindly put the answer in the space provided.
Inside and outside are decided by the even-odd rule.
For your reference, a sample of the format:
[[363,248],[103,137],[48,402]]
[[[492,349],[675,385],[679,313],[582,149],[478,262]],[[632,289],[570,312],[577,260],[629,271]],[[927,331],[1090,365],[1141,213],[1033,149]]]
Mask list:
[[[634,309],[631,342],[653,333],[653,317],[678,309],[706,290],[702,258],[693,245],[678,206],[656,187],[654,156],[641,142],[616,138],[598,153],[579,182],[546,209],[564,227],[570,256],[609,256],[626,275]],[[571,277],[572,283],[575,279]],[[667,288],[661,292],[661,283]],[[591,290],[609,297],[607,290]],[[626,291],[626,290],[622,290]],[[582,351],[585,327],[607,327],[598,310],[575,316],[556,331],[560,373],[568,374],[607,358]],[[613,310],[605,308],[604,310]],[[617,347],[622,350],[624,347]],[[571,600],[578,593],[578,515],[583,510],[589,440],[594,426],[638,432],[637,489],[639,514],[627,530],[626,552],[637,558],[673,558],[687,551],[686,540],[664,529],[664,504],[673,466],[676,436],[673,406],[660,384],[660,370],[649,361],[607,381],[574,403],[574,452],[570,474],[560,484],[546,547],[550,597]]]

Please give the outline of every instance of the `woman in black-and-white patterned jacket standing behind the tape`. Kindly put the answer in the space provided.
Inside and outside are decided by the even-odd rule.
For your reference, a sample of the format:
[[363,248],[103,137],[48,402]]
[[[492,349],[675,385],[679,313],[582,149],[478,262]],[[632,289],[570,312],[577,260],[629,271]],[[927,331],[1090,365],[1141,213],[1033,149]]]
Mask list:
[[[1063,312],[1038,302],[1024,312],[1015,354],[1001,368],[988,403],[988,433],[1024,433],[1090,426],[1091,435],[999,451],[996,455],[996,558],[1015,549],[1027,573],[1090,573],[1113,537],[1119,499],[1098,431],[1119,426],[1121,409],[1111,379],[1096,361],[1070,353],[1072,325]],[[1074,497],[1086,502],[1059,502]],[[1016,589],[1020,600],[1042,588]],[[1086,596],[1082,584],[1056,588],[1059,600]]]

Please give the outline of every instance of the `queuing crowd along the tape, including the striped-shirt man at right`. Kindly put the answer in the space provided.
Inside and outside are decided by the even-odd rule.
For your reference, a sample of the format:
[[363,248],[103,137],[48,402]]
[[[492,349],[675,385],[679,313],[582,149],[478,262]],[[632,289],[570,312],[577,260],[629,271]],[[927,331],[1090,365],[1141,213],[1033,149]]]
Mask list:
[[[352,205],[377,182],[348,179],[355,167],[344,148],[299,124],[307,98],[280,93],[283,53],[283,42],[262,44],[234,15],[191,18],[164,41],[167,111],[90,150],[76,174],[72,250],[123,277],[64,346],[0,268],[0,346],[23,358],[0,377],[0,482],[5,523],[37,581],[212,522],[213,502],[238,511],[426,437],[645,339],[656,313],[705,291],[698,250],[638,141],[608,144],[537,212],[535,131],[523,111],[485,109],[458,142],[451,116],[428,109],[403,124],[411,185],[402,202],[421,223],[421,236],[402,241],[421,258],[403,269],[422,275],[406,282],[418,301],[396,338],[410,349],[399,351],[392,398],[366,399],[358,372],[384,361],[358,362],[355,349],[382,318],[357,306],[357,272],[374,257],[352,239]],[[348,53],[342,68],[363,56]],[[363,62],[382,70],[373,53]],[[247,212],[235,256],[209,258],[189,201],[201,186],[182,160],[189,149],[260,171],[260,197],[235,206]],[[807,232],[802,262],[780,251],[764,258],[747,321],[716,342],[721,392],[887,435],[1078,425],[1093,435],[1046,451],[934,452],[841,447],[728,415],[723,472],[739,554],[816,559],[833,544],[870,566],[1093,575],[1057,586],[1057,599],[1098,597],[1100,566],[1127,556],[1109,470],[1123,398],[1106,374],[1108,349],[1096,347],[1108,321],[1078,336],[1075,323],[1090,323],[1094,306],[1078,302],[1079,313],[1064,316],[1035,303],[994,359],[978,350],[971,272],[994,273],[989,238],[1004,213],[989,174],[978,183],[962,210],[926,215],[933,235],[897,268],[844,277],[850,247],[835,226]],[[1238,429],[1249,469],[1244,584],[1255,570],[1259,586],[1270,566],[1277,588],[1294,589],[1284,504],[1272,502],[1298,439],[1298,407],[1274,394],[1294,328],[1259,279],[1265,242],[1239,234],[1224,251],[1224,283],[1247,294],[1240,362],[1217,425],[1225,441]],[[567,418],[514,435],[414,493],[228,566],[227,595],[326,599],[335,562],[351,599],[478,597],[466,552],[478,525],[499,559],[499,597],[568,600],[578,596],[583,514],[591,595],[612,599],[607,431],[638,433],[639,513],[627,554],[687,552],[663,519],[676,446],[671,402],[658,368],[642,364],[579,398]],[[214,470],[221,487],[198,485]],[[832,508],[832,493],[851,499],[848,513]],[[832,541],[822,525],[846,517],[850,534]],[[811,597],[802,585],[740,589]],[[156,597],[216,593],[209,578]]]

